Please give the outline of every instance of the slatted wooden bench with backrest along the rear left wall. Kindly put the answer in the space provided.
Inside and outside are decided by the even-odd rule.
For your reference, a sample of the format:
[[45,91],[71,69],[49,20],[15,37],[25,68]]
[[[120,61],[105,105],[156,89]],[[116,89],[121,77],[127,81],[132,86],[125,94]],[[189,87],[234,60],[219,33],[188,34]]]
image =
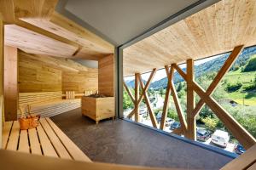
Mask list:
[[[55,116],[81,106],[81,99],[62,99],[62,92],[20,93],[19,106],[31,106],[32,113],[41,116]],[[26,112],[26,111],[24,111]],[[18,117],[20,112],[18,113]]]

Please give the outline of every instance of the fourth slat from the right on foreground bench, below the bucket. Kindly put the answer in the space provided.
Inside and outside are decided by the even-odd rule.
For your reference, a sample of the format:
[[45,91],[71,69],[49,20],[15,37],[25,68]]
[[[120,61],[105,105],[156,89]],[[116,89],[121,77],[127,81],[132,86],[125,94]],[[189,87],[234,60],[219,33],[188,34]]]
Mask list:
[[36,128],[28,129],[28,136],[32,154],[42,155]]

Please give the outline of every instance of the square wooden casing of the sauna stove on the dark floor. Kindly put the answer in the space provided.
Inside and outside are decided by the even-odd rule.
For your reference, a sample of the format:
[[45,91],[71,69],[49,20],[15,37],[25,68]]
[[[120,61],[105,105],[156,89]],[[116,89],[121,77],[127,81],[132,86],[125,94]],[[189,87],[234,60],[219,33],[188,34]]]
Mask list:
[[106,118],[114,117],[114,97],[82,98],[82,114],[96,121],[96,124]]

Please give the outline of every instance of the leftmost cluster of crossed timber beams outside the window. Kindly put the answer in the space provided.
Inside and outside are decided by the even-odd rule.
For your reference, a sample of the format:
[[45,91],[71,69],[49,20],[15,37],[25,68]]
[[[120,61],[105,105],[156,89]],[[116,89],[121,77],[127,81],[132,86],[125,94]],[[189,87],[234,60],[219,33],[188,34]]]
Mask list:
[[[125,90],[129,94],[131,101],[134,104],[134,109],[131,111],[131,113],[127,117],[131,118],[134,115],[135,121],[138,122],[139,105],[141,104],[142,100],[145,99],[145,103],[148,108],[148,113],[149,113],[152,125],[153,125],[153,127],[157,128],[157,122],[156,122],[156,118],[154,116],[154,110],[152,109],[152,105],[150,104],[150,100],[148,98],[148,93],[147,93],[149,85],[152,82],[155,73],[156,73],[156,69],[153,69],[150,76],[148,77],[148,82],[146,82],[146,85],[144,85],[143,78],[142,78],[141,74],[140,73],[135,74],[135,88],[134,88],[135,97],[133,97],[133,95],[131,94],[131,90],[127,87],[127,85],[125,84],[125,81],[123,81],[123,83],[124,83]],[[139,96],[139,86],[142,89],[142,94],[140,96]]]

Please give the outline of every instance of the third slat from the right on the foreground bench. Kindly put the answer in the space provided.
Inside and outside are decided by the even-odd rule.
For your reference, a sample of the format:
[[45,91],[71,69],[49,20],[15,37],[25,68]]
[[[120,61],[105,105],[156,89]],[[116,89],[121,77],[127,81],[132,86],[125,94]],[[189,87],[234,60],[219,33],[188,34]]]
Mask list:
[[46,133],[44,132],[43,127],[40,125],[37,127],[38,130],[38,137],[40,139],[40,143],[42,146],[42,150],[44,152],[44,156],[52,156],[52,157],[58,157],[54,147],[50,143]]

